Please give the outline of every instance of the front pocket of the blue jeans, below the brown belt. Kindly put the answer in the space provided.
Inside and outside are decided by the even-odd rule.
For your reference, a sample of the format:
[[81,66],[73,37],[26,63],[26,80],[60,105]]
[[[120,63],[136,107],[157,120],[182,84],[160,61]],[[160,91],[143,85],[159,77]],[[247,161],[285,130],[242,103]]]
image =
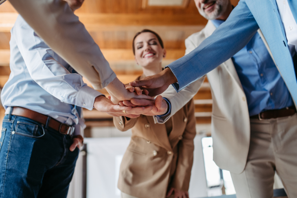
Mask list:
[[43,129],[38,130],[38,125],[28,122],[17,121],[15,134],[26,136],[29,138],[41,138],[45,135]]

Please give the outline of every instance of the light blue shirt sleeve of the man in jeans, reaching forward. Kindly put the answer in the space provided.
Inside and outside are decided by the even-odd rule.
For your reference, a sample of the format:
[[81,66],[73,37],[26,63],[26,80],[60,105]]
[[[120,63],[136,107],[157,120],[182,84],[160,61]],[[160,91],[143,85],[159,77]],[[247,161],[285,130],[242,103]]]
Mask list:
[[[56,54],[19,16],[11,30],[31,78],[50,95],[62,102],[93,109],[95,98],[102,95],[87,86],[82,76],[70,73]],[[63,59],[61,58],[63,61]]]

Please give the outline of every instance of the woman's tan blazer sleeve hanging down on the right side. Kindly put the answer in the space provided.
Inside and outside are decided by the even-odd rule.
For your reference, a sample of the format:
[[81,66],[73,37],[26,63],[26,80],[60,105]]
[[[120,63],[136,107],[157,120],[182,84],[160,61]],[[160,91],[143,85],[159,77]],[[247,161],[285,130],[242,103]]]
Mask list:
[[183,139],[178,143],[178,161],[171,187],[188,191],[194,157],[194,138],[196,136],[195,106],[193,99],[187,104],[188,122]]

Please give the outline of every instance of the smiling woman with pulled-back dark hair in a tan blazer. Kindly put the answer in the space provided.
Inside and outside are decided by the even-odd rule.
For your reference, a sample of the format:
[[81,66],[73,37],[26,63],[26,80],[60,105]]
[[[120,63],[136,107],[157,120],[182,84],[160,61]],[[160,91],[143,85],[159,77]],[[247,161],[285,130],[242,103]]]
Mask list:
[[[166,50],[156,33],[150,30],[137,33],[133,52],[137,64],[143,68],[138,79],[162,70]],[[189,197],[196,136],[194,110],[191,99],[165,124],[155,124],[153,117],[147,115],[113,118],[117,129],[132,128],[131,142],[120,167],[118,188],[122,198]]]

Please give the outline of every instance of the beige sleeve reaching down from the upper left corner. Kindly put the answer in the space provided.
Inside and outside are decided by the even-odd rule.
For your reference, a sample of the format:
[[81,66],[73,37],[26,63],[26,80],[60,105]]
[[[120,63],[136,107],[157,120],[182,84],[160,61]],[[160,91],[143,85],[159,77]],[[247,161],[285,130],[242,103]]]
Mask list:
[[94,89],[116,77],[85,26],[63,0],[9,0],[35,32]]

